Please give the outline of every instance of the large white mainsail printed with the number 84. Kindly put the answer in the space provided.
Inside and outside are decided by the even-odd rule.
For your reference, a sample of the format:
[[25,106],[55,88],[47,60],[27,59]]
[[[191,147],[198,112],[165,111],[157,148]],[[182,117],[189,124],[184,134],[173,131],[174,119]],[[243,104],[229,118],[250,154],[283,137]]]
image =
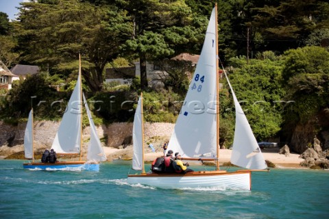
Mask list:
[[212,10],[202,52],[167,151],[182,157],[216,157],[216,22]]

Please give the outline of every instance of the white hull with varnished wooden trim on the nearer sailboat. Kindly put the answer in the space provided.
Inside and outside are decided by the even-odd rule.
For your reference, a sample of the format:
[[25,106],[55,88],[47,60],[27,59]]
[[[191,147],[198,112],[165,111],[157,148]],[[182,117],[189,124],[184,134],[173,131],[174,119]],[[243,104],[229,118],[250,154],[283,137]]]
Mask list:
[[216,188],[251,190],[251,172],[199,171],[186,174],[128,175],[130,184],[150,185],[167,189]]

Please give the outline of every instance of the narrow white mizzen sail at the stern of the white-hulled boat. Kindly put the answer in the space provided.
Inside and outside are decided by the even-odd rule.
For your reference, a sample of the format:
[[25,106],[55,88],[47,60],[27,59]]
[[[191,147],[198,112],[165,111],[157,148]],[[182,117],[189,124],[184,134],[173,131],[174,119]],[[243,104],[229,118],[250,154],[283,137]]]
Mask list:
[[132,142],[134,154],[132,156],[132,168],[134,170],[142,170],[143,166],[143,115],[142,115],[141,97],[134,116],[134,126],[132,128]]

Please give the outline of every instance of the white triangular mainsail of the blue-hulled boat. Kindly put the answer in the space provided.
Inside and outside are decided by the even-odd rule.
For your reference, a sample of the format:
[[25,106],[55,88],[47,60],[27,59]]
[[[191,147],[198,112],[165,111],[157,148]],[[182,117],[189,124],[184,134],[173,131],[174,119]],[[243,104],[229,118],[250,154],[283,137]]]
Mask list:
[[56,153],[80,153],[80,114],[82,114],[82,100],[79,74],[77,84],[62,117],[62,122],[53,140],[53,145],[51,146],[51,149],[55,150]]

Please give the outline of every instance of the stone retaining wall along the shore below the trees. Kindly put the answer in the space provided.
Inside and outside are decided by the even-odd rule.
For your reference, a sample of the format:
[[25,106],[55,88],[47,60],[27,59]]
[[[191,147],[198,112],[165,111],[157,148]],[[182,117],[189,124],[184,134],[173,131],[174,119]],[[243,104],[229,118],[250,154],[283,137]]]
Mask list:
[[[50,148],[56,136],[60,123],[53,121],[37,121],[34,123],[34,144],[36,147]],[[24,132],[26,123],[19,125],[7,125],[0,121],[0,147],[16,146],[24,142]],[[173,131],[174,124],[171,123],[144,123],[144,136],[151,138],[154,136],[165,136],[169,138]],[[83,130],[83,139],[89,138],[90,129]],[[99,138],[107,137],[107,146],[119,147],[125,139],[132,136],[132,123],[114,123],[108,126],[97,127]]]

